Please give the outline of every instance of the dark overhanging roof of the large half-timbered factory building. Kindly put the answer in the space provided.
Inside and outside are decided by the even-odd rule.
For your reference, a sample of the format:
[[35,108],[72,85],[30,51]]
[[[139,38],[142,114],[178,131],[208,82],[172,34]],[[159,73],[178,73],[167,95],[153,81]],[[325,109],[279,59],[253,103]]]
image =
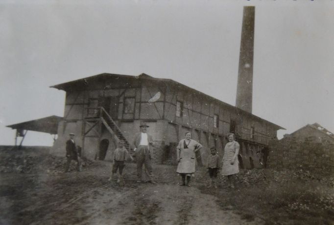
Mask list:
[[130,76],[130,75],[121,75],[121,74],[109,74],[109,73],[102,73],[102,74],[98,74],[98,75],[95,75],[95,76],[91,76],[91,77],[87,77],[87,78],[82,78],[82,79],[79,79],[79,80],[75,80],[75,81],[71,81],[71,82],[65,82],[65,83],[60,83],[60,84],[56,84],[56,85],[53,85],[53,86],[50,86],[50,87],[53,87],[53,88],[57,88],[59,90],[64,90],[64,91],[70,91],[72,90],[72,87],[73,86],[80,86],[80,87],[83,87],[83,86],[89,86],[90,82],[93,82],[93,81],[96,81],[96,80],[108,80],[110,78],[117,78],[117,77],[123,77],[123,78],[131,78],[131,79],[142,79],[142,80],[152,80],[152,81],[157,81],[157,82],[169,82],[169,83],[173,83],[174,85],[177,85],[181,88],[186,88],[186,89],[189,89],[191,90],[192,92],[197,92],[201,95],[204,95],[206,96],[207,98],[211,99],[211,100],[214,100],[226,107],[229,107],[229,108],[234,108],[234,109],[237,109],[239,112],[245,114],[245,115],[249,115],[253,118],[256,118],[256,119],[259,119],[259,120],[262,120],[262,121],[265,121],[267,123],[270,123],[271,125],[274,125],[277,127],[277,129],[283,129],[283,130],[286,130],[286,128],[282,127],[282,126],[279,126],[275,123],[271,123],[269,121],[266,121],[252,113],[249,113],[247,111],[244,111],[234,105],[231,105],[231,104],[228,104],[226,102],[222,102],[212,96],[209,96],[203,92],[200,92],[196,89],[193,89],[189,86],[186,86],[182,83],[179,83],[179,82],[176,82],[174,80],[171,80],[171,79],[162,79],[162,78],[154,78],[154,77],[151,77],[147,74],[140,74],[139,76]]

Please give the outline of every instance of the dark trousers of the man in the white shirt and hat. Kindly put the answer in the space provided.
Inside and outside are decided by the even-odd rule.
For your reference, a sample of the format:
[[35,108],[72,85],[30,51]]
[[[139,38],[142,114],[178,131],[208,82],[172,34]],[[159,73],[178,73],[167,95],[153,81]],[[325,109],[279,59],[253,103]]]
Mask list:
[[148,176],[149,181],[152,180],[152,164],[151,156],[147,146],[139,145],[136,150],[137,160],[137,178],[142,180],[143,164],[145,166],[145,173]]

